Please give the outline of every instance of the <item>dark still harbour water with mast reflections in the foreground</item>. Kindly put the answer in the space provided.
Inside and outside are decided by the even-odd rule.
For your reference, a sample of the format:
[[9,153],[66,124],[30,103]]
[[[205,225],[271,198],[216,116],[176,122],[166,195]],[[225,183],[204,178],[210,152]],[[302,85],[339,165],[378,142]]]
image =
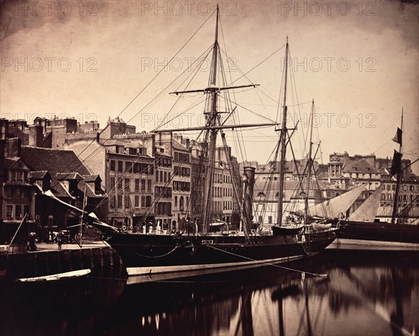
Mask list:
[[326,250],[287,266],[329,277],[267,266],[2,288],[1,335],[419,335],[417,251]]

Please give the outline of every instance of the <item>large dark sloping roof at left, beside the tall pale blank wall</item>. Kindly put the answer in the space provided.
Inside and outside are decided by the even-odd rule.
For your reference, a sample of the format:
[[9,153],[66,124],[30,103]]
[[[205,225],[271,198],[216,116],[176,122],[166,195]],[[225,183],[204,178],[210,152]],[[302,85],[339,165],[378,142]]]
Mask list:
[[73,150],[22,146],[21,158],[31,170],[47,170],[52,177],[57,173],[90,175]]

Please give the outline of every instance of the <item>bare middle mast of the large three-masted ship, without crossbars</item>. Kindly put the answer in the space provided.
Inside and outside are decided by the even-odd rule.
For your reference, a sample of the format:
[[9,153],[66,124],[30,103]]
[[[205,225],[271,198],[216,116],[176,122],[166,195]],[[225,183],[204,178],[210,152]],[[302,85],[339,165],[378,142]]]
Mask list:
[[285,48],[285,83],[284,83],[284,102],[282,104],[282,127],[281,127],[281,136],[279,140],[281,141],[281,161],[279,164],[279,191],[278,191],[278,214],[277,214],[277,224],[278,226],[282,225],[282,205],[284,198],[284,180],[285,180],[285,162],[286,162],[286,82],[288,74],[288,36],[286,38],[286,48]]

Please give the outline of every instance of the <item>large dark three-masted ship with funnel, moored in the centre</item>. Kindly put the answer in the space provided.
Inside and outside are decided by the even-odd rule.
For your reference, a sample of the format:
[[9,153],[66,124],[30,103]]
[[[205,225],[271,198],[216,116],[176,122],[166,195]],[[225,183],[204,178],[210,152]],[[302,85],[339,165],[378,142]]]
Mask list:
[[[157,234],[145,233],[140,229],[133,232],[119,232],[117,228],[101,223],[94,217],[85,219],[99,228],[107,236],[106,241],[122,258],[129,276],[142,277],[144,281],[154,279],[170,279],[189,277],[191,275],[208,272],[224,272],[241,268],[253,268],[284,263],[307,256],[314,256],[335,240],[338,229],[327,231],[290,231],[281,234],[262,233],[254,229],[252,217],[253,184],[255,168],[244,167],[240,177],[233,170],[226,154],[230,180],[233,181],[233,196],[237,210],[241,212],[240,231],[223,231],[211,233],[214,222],[214,168],[217,137],[220,137],[223,148],[226,144],[226,129],[246,128],[255,126],[277,126],[269,124],[226,124],[226,119],[235,111],[226,112],[220,107],[223,93],[228,94],[234,89],[256,87],[256,85],[232,86],[226,85],[225,77],[219,80],[217,73],[223,71],[221,48],[219,45],[219,9],[216,9],[215,40],[212,45],[212,62],[210,79],[205,89],[194,89],[172,92],[175,95],[205,94],[205,126],[190,129],[164,130],[168,131],[201,131],[204,141],[197,151],[199,156],[199,172],[191,184],[195,189],[191,191],[188,205],[189,219],[196,230],[192,233]],[[284,60],[285,85],[288,69],[288,38],[286,42],[286,57]],[[225,105],[228,107],[228,104]],[[279,186],[278,223],[282,218],[282,189],[284,188],[284,161],[286,155],[286,86],[284,89],[283,122],[281,124],[281,183]],[[224,116],[227,113],[227,116]],[[158,130],[156,132],[159,132]],[[157,197],[157,196],[156,196]]]

